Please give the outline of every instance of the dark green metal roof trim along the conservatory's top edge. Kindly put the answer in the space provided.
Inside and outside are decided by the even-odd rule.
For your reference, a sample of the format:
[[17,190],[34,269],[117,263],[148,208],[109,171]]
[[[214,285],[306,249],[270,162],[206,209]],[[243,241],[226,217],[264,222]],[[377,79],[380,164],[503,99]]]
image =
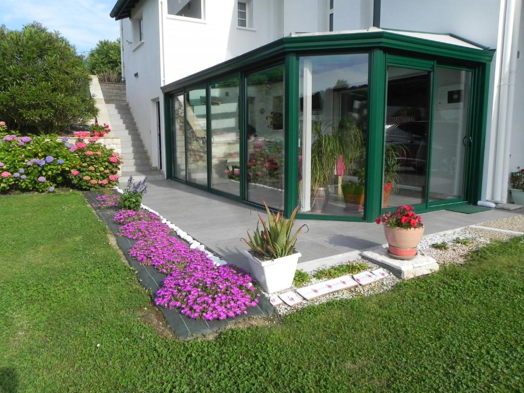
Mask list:
[[489,49],[474,49],[437,42],[428,39],[402,36],[388,31],[357,32],[353,34],[311,35],[283,37],[267,45],[241,54],[223,63],[199,71],[176,82],[162,86],[163,92],[180,90],[186,86],[205,82],[207,79],[219,77],[245,68],[259,67],[263,63],[274,62],[288,52],[308,53],[324,50],[367,50],[383,48],[394,51],[419,54],[433,59],[455,59],[462,63],[490,63],[493,51]]

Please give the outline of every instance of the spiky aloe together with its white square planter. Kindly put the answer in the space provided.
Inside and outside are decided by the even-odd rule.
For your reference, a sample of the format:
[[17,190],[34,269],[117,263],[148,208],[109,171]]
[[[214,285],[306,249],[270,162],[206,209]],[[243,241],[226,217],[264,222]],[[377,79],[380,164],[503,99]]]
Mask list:
[[[244,242],[251,248],[245,254],[249,260],[249,267],[260,286],[267,292],[273,293],[291,287],[297,270],[298,258],[301,256],[294,248],[298,234],[304,225],[291,234],[298,207],[293,210],[289,219],[285,219],[280,212],[271,212],[266,204],[268,222],[258,215],[259,222],[255,233],[247,231]],[[263,231],[258,224],[262,224]]]

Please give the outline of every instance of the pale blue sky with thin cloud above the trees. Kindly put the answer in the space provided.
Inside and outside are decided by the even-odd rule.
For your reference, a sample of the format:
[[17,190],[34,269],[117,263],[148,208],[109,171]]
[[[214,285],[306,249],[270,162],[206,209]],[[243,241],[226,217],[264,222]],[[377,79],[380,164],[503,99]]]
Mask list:
[[120,36],[118,21],[109,16],[116,0],[0,0],[0,25],[9,30],[38,21],[48,30],[58,30],[87,54],[99,40]]

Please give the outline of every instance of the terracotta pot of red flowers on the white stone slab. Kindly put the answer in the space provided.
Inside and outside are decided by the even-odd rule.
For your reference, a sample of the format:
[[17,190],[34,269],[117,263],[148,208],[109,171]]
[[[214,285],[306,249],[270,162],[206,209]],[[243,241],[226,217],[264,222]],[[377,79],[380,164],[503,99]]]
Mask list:
[[375,222],[384,225],[388,253],[392,258],[413,259],[417,256],[417,246],[424,234],[424,224],[413,206],[400,206],[395,213],[387,211],[377,217]]

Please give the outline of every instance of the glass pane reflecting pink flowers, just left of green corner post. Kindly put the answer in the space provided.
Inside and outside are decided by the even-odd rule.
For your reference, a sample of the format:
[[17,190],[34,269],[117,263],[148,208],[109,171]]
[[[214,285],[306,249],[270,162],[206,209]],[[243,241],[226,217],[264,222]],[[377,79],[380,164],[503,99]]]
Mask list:
[[247,93],[247,200],[282,209],[284,67],[250,74]]

